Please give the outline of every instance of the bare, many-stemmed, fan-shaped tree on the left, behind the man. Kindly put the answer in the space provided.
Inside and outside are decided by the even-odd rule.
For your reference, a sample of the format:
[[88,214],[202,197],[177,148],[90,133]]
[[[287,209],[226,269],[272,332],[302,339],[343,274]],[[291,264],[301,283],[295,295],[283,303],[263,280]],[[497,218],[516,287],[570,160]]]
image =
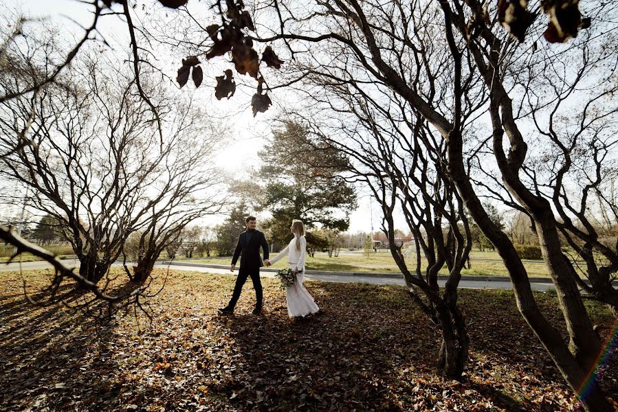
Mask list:
[[[162,144],[150,108],[134,93],[135,82],[122,72],[88,63],[66,77],[65,87],[50,85],[34,101],[15,98],[2,107],[0,144],[7,150],[16,146],[32,111],[36,117],[28,132],[34,144],[3,157],[0,173],[32,188],[32,207],[61,222],[80,275],[94,283],[133,231],[150,233],[151,242],[173,237],[170,228],[217,207],[200,197],[217,183],[208,161],[221,135],[207,130],[203,113],[176,101],[165,115]],[[162,243],[145,249],[153,254],[143,260],[145,268],[137,262],[140,281]]]

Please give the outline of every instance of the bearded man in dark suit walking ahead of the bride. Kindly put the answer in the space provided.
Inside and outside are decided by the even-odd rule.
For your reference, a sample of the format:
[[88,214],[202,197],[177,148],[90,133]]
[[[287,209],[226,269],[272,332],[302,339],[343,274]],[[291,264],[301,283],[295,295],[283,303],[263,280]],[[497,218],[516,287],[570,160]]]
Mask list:
[[243,231],[241,236],[238,238],[238,244],[236,244],[236,250],[234,251],[230,271],[234,271],[239,255],[241,256],[241,268],[239,269],[238,277],[236,277],[236,286],[234,286],[234,293],[232,293],[230,303],[228,306],[225,306],[225,308],[219,308],[219,312],[223,314],[234,313],[234,306],[236,306],[236,302],[239,297],[241,297],[241,290],[243,290],[243,285],[247,282],[247,276],[251,277],[253,288],[255,289],[256,304],[253,313],[260,314],[262,312],[262,283],[260,282],[260,268],[261,266],[264,266],[264,264],[260,258],[260,247],[262,247],[264,251],[264,262],[269,265],[268,243],[266,242],[266,236],[264,236],[264,233],[255,229],[256,221],[253,216],[245,218],[245,225],[247,226],[247,230]]

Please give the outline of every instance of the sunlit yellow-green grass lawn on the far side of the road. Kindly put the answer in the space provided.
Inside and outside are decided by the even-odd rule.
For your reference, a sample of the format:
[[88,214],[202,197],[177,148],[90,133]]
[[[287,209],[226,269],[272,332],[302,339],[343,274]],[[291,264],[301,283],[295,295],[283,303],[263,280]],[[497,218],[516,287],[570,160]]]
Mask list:
[[[491,259],[500,259],[498,253],[489,255],[483,253],[483,258],[491,256]],[[276,253],[273,253],[276,255]],[[470,258],[470,269],[464,269],[463,275],[483,275],[483,276],[508,276],[507,269],[500,260],[480,259],[479,255],[472,255]],[[230,264],[232,258],[199,258],[191,260],[195,263],[208,264]],[[410,269],[415,270],[415,260],[409,260]],[[283,258],[277,262],[274,268],[284,268],[287,265],[287,260]],[[524,266],[528,271],[529,276],[549,276],[547,266],[542,261],[525,262]],[[367,273],[400,273],[393,256],[389,252],[369,253],[341,253],[337,258],[329,258],[328,253],[316,253],[311,258],[307,256],[307,268],[316,271],[337,271],[337,272],[367,272]],[[442,268],[440,273],[447,275],[446,266]]]

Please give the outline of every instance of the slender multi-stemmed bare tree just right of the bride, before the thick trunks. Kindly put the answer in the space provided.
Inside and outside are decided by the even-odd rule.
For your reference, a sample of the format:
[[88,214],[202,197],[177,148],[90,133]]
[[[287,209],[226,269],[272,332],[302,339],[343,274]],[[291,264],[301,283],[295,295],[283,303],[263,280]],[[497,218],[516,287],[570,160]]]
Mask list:
[[[318,142],[327,142],[353,159],[349,170],[353,179],[370,188],[382,209],[382,231],[410,297],[441,330],[437,366],[445,376],[461,378],[469,337],[465,315],[456,303],[457,287],[472,237],[463,201],[443,170],[446,146],[403,100],[379,93],[370,96],[357,86],[329,84],[337,100],[329,99],[328,105],[336,115],[326,124],[311,123],[320,136]],[[377,97],[388,97],[390,104]],[[397,210],[404,212],[415,238],[412,262],[406,260],[403,244],[395,241],[401,232],[395,228]],[[444,265],[449,279],[441,292],[438,273]]]

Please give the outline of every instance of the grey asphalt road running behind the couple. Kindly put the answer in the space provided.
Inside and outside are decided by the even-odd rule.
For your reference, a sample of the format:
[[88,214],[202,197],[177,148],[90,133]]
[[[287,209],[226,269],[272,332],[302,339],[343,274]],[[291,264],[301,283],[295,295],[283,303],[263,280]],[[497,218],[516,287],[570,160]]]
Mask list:
[[[66,266],[78,266],[78,261],[74,259],[62,260],[63,264]],[[116,262],[116,266],[120,266],[122,262]],[[22,271],[31,271],[42,268],[51,267],[47,262],[23,262],[23,263],[10,263],[10,264],[0,264],[0,271],[19,271],[20,268]],[[166,264],[157,264],[156,268],[167,268]],[[170,270],[174,271],[193,271],[193,272],[201,272],[201,273],[222,273],[225,275],[234,275],[230,273],[229,269],[225,268],[207,268],[200,266],[183,266],[180,264],[174,264],[169,266]],[[263,271],[261,273],[263,277],[274,277],[273,272]],[[404,278],[403,277],[377,277],[377,276],[352,276],[352,275],[324,275],[324,274],[310,274],[307,273],[305,275],[305,279],[307,280],[320,280],[322,282],[344,282],[344,283],[367,283],[367,284],[378,284],[378,285],[401,285],[404,286]],[[444,286],[445,281],[439,280],[438,282],[441,286]],[[548,290],[553,289],[553,284],[551,283],[531,283],[533,290]],[[459,282],[460,288],[471,288],[471,289],[511,289],[511,282],[505,277],[505,280],[461,280]]]

